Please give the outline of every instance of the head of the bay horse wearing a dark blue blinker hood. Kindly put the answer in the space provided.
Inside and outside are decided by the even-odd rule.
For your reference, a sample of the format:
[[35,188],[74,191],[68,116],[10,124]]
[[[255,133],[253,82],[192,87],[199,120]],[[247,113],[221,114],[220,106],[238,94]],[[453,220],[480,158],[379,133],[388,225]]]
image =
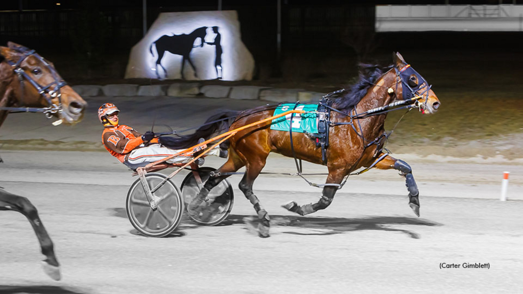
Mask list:
[[394,53],[392,58],[396,71],[396,86],[390,89],[391,94],[395,94],[397,99],[416,100],[423,114],[434,114],[438,111],[441,103],[425,78],[406,63],[399,52]]

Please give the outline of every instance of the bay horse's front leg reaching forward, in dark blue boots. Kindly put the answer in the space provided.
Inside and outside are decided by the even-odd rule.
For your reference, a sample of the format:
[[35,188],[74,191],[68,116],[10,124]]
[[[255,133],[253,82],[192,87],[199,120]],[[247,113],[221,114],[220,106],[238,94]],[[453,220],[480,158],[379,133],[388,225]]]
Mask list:
[[[382,156],[380,154],[378,157]],[[414,176],[412,175],[412,168],[406,162],[395,159],[394,157],[387,155],[383,160],[376,164],[379,169],[397,169],[400,171],[400,175],[405,177],[405,183],[408,190],[408,205],[412,208],[416,216],[419,217],[419,191]]]

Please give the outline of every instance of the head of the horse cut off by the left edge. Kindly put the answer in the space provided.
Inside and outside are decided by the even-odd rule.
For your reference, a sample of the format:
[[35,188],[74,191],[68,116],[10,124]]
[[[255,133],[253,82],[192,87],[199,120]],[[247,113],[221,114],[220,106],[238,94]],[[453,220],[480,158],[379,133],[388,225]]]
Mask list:
[[67,124],[82,120],[87,103],[67,85],[54,65],[34,50],[13,42],[0,47],[0,55],[12,70],[12,97],[20,107],[38,107],[48,118],[56,117]]

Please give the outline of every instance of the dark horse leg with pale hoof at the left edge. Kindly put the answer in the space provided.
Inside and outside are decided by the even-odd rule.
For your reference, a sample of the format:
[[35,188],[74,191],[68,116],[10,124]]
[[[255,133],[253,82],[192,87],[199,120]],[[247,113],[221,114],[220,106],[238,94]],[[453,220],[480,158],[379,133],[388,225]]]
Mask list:
[[54,255],[53,242],[46,228],[43,227],[35,206],[25,197],[16,196],[0,189],[0,210],[14,210],[26,216],[38,237],[42,254],[46,256],[42,263],[43,271],[52,279],[60,280],[60,264]]

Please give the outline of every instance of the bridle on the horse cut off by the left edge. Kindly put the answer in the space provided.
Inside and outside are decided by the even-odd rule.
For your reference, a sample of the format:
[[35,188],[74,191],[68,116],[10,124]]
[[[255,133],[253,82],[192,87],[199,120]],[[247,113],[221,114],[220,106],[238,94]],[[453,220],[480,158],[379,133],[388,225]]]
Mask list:
[[[48,107],[0,107],[0,110],[8,110],[10,113],[17,113],[17,112],[43,112],[43,114],[46,115],[47,118],[52,118],[52,115],[55,113],[61,113],[62,112],[62,93],[60,92],[60,89],[67,85],[67,83],[64,80],[60,79],[60,76],[58,72],[54,69],[53,66],[51,66],[42,56],[40,56],[38,53],[35,52],[35,50],[26,50],[22,48],[18,48],[17,51],[24,53],[24,55],[18,60],[18,62],[14,63],[7,59],[5,61],[7,64],[11,65],[13,67],[13,71],[18,76],[18,81],[20,81],[20,90],[21,90],[21,97],[19,99],[19,102],[21,105],[24,105],[24,82],[28,81],[33,87],[36,88],[38,93],[43,96],[43,98],[46,99],[48,103]],[[39,59],[46,68],[51,72],[54,82],[49,83],[46,86],[41,86],[36,82],[30,75],[28,75],[24,69],[21,67],[21,63],[28,58],[29,56],[35,56],[37,59]],[[52,99],[58,97],[58,105],[54,104]]]

